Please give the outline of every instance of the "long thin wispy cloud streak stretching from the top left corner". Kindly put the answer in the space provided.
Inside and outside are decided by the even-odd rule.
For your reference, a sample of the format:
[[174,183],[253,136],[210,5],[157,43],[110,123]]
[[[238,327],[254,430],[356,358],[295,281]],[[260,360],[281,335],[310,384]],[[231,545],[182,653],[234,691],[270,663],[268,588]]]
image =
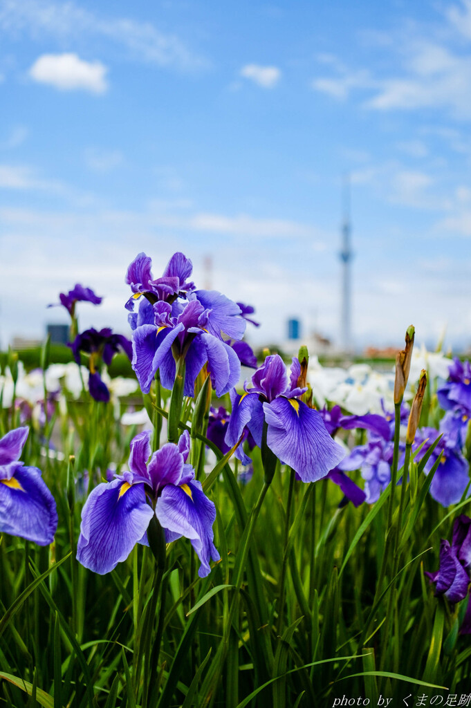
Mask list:
[[55,38],[75,44],[98,36],[125,48],[131,57],[161,67],[183,70],[200,69],[207,61],[192,52],[174,34],[161,32],[151,22],[125,17],[106,17],[82,8],[73,0],[3,0],[0,5],[0,28],[10,35],[27,34],[33,40]]

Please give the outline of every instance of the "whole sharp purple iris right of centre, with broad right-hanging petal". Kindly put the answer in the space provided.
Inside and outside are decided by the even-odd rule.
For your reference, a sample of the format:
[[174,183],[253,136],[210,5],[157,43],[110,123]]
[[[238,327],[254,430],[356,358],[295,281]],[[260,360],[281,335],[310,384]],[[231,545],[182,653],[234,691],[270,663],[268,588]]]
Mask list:
[[293,358],[290,382],[283,359],[268,356],[252,376],[251,388],[239,396],[231,392],[232,415],[225,441],[233,447],[247,426],[259,447],[263,423],[266,442],[283,464],[289,464],[302,481],[321,479],[344,457],[344,450],[327,433],[322,416],[309,408],[301,396],[307,389],[297,387],[301,367]]

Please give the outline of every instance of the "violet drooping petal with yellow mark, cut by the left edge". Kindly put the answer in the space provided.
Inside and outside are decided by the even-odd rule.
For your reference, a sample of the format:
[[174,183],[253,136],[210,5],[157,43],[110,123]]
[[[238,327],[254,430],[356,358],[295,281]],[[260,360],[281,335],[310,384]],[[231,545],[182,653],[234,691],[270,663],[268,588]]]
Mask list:
[[56,503],[40,469],[19,467],[0,481],[0,532],[47,546],[56,530]]

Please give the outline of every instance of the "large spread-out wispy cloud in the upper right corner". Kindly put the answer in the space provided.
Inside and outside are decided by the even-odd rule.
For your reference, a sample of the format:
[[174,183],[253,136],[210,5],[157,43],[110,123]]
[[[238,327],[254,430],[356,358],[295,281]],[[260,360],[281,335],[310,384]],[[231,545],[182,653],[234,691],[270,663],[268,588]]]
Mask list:
[[426,31],[420,25],[404,25],[387,42],[377,42],[375,51],[390,59],[387,74],[352,69],[331,55],[317,57],[329,67],[330,75],[316,76],[312,88],[341,101],[359,93],[363,107],[370,110],[438,108],[467,120],[471,118],[471,51],[463,47],[463,36],[471,38],[470,0],[450,8],[444,23]]

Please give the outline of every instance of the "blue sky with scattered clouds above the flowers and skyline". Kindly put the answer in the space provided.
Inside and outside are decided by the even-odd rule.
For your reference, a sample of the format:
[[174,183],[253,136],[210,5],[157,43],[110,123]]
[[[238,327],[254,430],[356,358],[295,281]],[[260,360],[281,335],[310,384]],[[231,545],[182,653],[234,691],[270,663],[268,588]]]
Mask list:
[[181,250],[339,340],[351,178],[353,336],[471,344],[471,1],[0,0],[0,343],[127,331],[124,275]]

